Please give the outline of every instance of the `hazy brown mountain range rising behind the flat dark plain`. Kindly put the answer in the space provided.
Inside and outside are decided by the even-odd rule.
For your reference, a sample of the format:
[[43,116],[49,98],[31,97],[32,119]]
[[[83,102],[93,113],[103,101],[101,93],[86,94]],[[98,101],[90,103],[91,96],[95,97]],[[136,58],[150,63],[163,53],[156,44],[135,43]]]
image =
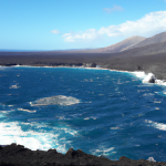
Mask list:
[[77,50],[73,53],[116,53],[131,56],[166,53],[166,32],[151,38],[134,35],[106,48]]

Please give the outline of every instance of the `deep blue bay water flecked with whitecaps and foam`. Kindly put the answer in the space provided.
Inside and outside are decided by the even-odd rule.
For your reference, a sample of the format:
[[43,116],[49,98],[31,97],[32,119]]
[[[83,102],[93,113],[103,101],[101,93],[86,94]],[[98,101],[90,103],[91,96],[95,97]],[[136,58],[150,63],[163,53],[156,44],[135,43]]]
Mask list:
[[0,68],[0,144],[166,162],[166,87],[133,73]]

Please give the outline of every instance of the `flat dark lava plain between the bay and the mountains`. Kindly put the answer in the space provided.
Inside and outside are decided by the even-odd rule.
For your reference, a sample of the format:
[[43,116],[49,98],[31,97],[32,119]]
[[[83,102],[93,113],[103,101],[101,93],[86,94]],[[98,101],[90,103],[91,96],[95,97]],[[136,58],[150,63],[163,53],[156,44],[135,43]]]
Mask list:
[[166,55],[123,53],[0,52],[0,65],[83,66],[117,71],[145,71],[166,80]]

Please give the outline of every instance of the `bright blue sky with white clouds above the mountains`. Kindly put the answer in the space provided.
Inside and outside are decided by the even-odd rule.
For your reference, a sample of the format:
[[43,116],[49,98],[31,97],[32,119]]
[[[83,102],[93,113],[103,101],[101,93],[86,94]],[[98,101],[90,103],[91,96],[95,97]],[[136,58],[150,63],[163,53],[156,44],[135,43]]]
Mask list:
[[95,49],[166,31],[166,0],[0,0],[0,50]]

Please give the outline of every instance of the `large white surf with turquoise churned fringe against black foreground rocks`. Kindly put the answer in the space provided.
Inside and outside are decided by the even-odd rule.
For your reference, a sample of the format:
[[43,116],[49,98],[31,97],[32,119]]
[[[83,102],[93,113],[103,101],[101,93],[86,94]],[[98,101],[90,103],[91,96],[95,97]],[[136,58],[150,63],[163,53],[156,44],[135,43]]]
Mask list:
[[[22,125],[31,125],[38,127],[44,127],[43,124],[35,123],[21,123]],[[28,148],[33,151],[42,149],[48,151],[50,148],[56,148],[61,153],[65,153],[65,144],[70,143],[63,136],[63,133],[69,133],[70,135],[76,135],[76,132],[66,127],[53,127],[53,131],[56,131],[56,134],[45,133],[45,132],[35,132],[28,131],[23,132],[18,122],[11,123],[0,123],[0,143],[1,145],[8,145],[11,143],[17,143],[24,145]],[[60,141],[62,136],[63,139]]]

